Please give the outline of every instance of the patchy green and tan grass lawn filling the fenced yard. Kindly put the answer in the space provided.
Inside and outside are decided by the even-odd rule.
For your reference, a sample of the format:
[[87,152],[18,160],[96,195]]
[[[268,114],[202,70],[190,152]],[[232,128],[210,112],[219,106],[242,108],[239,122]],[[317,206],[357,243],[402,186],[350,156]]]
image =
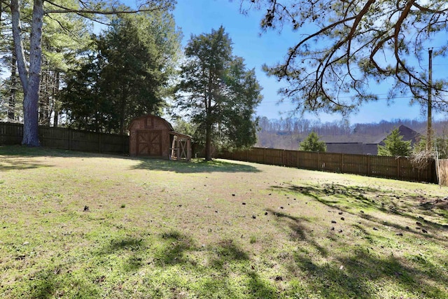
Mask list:
[[448,298],[447,190],[0,146],[0,298]]

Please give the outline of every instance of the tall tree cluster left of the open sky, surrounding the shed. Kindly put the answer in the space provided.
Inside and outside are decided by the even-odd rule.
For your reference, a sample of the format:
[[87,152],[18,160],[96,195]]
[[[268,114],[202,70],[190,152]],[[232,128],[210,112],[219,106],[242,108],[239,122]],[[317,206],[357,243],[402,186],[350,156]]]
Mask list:
[[223,27],[182,51],[172,0],[0,3],[0,117],[24,123],[22,144],[38,125],[125,134],[145,114],[190,123],[207,160],[255,143],[261,88]]

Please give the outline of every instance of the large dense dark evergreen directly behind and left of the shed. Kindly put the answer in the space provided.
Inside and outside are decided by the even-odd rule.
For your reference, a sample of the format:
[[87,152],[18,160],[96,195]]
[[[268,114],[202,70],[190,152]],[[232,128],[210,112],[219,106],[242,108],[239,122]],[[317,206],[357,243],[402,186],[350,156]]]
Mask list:
[[160,114],[179,44],[168,13],[114,18],[62,92],[71,125],[123,134],[133,118]]

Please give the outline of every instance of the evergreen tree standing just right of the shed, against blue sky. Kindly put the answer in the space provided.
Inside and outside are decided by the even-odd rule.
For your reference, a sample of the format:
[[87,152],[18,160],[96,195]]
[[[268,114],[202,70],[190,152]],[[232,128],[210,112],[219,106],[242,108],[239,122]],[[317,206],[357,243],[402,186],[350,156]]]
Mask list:
[[211,160],[216,148],[244,148],[256,142],[260,85],[255,71],[232,55],[232,41],[223,27],[211,34],[191,36],[181,67],[176,106],[201,130],[196,136]]

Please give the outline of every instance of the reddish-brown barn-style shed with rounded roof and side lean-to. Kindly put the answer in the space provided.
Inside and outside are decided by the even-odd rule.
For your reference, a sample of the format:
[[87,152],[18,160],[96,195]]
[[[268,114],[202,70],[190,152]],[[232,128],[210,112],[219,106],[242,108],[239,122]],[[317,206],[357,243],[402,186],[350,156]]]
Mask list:
[[135,118],[128,130],[130,155],[191,159],[191,136],[174,132],[172,125],[163,118],[153,115]]

